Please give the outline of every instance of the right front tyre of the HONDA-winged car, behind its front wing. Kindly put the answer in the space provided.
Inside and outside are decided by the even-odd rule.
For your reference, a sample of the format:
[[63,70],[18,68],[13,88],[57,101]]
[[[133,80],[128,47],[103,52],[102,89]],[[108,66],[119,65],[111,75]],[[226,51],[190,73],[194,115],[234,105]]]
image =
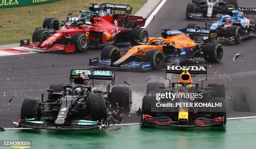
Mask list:
[[212,98],[211,103],[221,103],[221,106],[211,107],[210,118],[222,117],[224,124],[227,122],[225,98]]

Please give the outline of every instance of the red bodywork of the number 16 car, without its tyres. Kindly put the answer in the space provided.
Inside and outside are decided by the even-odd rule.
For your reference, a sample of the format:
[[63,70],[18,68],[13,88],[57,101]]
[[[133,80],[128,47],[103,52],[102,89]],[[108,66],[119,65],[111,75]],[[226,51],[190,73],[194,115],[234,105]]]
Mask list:
[[[42,43],[21,40],[20,46],[49,51],[74,52],[76,51],[75,46],[68,43],[74,33],[84,33],[89,38],[90,45],[111,44],[118,37],[127,35],[128,31],[132,29],[126,27],[127,22],[133,24],[133,27],[142,27],[145,25],[146,19],[121,14],[91,17],[90,21],[78,24],[75,27],[67,25],[65,26],[67,29],[55,30],[54,34]],[[59,44],[58,41],[60,40],[66,41],[67,44]]]

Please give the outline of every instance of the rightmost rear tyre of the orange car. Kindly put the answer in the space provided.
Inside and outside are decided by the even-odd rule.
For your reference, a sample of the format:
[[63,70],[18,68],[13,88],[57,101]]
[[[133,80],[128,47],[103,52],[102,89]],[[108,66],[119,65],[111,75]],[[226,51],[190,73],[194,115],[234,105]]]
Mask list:
[[203,49],[204,59],[207,62],[219,63],[223,57],[223,49],[220,43],[206,43]]

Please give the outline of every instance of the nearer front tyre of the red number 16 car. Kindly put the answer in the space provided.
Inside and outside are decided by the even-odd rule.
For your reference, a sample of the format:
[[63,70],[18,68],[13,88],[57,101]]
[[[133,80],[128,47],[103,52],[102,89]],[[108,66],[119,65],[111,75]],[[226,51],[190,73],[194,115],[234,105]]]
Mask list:
[[75,45],[77,52],[84,52],[89,46],[89,39],[84,33],[74,33],[70,39],[70,43]]

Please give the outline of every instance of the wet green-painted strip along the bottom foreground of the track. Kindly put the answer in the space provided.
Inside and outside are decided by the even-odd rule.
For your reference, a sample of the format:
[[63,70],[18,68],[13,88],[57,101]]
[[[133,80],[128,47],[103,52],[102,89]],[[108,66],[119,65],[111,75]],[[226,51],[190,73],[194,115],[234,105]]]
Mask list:
[[[228,120],[228,129],[121,126],[118,131],[8,130],[0,140],[30,140],[31,149],[254,149],[256,119]],[[243,127],[241,127],[243,126]],[[1,147],[0,147],[1,148]],[[3,149],[13,149],[3,147]]]

